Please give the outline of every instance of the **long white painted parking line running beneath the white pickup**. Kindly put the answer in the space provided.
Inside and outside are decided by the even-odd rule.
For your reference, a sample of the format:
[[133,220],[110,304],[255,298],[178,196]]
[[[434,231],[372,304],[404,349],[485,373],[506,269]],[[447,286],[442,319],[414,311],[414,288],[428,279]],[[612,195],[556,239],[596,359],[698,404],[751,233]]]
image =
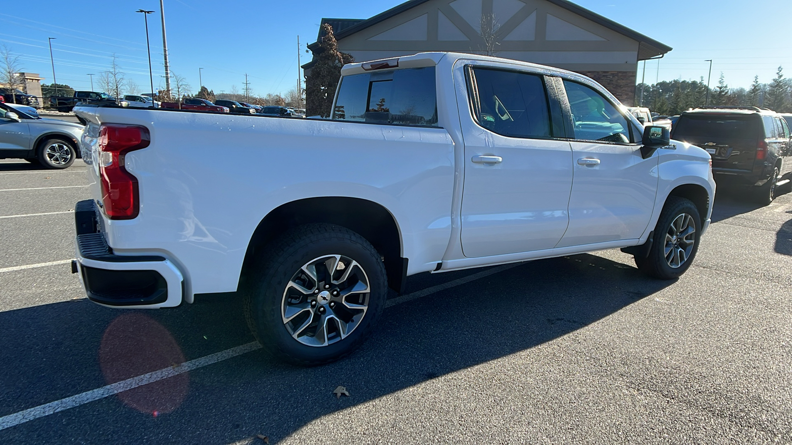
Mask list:
[[[398,304],[402,304],[404,302],[410,302],[415,299],[420,299],[427,295],[432,295],[436,292],[444,291],[451,287],[459,286],[460,284],[470,283],[470,281],[478,280],[479,278],[484,278],[485,276],[490,276],[498,272],[503,272],[507,269],[514,268],[518,265],[520,264],[505,264],[497,268],[491,268],[489,270],[485,270],[484,272],[474,273],[473,275],[465,276],[463,278],[459,278],[458,280],[453,280],[448,283],[427,287],[426,289],[423,289],[421,291],[416,291],[413,292],[412,294],[407,294],[402,297],[398,297],[396,299],[391,299],[390,301],[386,302],[385,307],[392,307]],[[0,272],[2,271],[3,269],[0,269]],[[216,352],[215,354],[211,354],[209,356],[200,357],[199,359],[193,359],[188,362],[181,363],[174,367],[162,368],[158,371],[153,371],[148,374],[139,375],[137,377],[128,378],[126,380],[112,383],[107,386],[102,386],[101,388],[97,388],[96,390],[89,390],[86,391],[85,393],[60,399],[59,401],[52,401],[44,405],[36,406],[35,408],[25,409],[25,411],[20,411],[19,413],[9,414],[8,416],[0,417],[0,430],[11,428],[18,424],[24,424],[25,422],[28,422],[30,420],[36,420],[44,416],[49,416],[50,414],[55,414],[55,413],[59,413],[60,411],[65,411],[70,408],[78,407],[80,405],[85,405],[86,403],[97,401],[101,398],[109,397],[112,396],[113,394],[118,394],[122,391],[131,390],[133,388],[137,388],[138,386],[146,385],[147,383],[158,382],[160,380],[173,377],[174,375],[180,375],[187,371],[192,371],[200,367],[211,365],[212,363],[218,363],[218,362],[222,362],[223,360],[227,360],[236,356],[241,356],[242,354],[246,354],[247,352],[256,351],[259,348],[261,348],[261,344],[258,344],[257,342],[253,341],[247,344],[242,344],[235,348],[226,349],[225,351],[222,352]]]

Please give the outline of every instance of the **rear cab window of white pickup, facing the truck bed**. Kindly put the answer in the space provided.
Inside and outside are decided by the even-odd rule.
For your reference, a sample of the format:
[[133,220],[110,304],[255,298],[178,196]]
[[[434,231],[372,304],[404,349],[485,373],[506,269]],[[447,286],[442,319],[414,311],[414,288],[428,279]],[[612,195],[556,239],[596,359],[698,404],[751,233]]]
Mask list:
[[436,127],[435,68],[345,76],[341,78],[333,119]]

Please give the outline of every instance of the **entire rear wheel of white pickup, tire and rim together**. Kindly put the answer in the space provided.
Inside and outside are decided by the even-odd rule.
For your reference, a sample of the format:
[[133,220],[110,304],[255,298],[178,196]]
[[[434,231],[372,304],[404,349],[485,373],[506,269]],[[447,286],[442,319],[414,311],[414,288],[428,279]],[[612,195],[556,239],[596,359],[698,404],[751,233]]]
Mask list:
[[385,308],[383,261],[365,238],[330,224],[299,226],[246,271],[245,315],[268,352],[292,363],[340,359]]

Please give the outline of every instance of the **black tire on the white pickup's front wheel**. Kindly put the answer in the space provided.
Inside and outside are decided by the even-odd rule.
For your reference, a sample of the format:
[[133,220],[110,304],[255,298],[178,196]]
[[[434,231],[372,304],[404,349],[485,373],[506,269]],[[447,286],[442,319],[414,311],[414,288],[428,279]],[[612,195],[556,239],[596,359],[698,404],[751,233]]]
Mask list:
[[[690,219],[687,219],[684,215],[689,215]],[[693,240],[689,239],[690,234],[683,238],[676,237],[676,235],[672,236],[672,232],[676,231],[676,229],[672,228],[672,223],[679,222],[679,218],[682,218],[683,224],[694,225],[694,231],[691,233]],[[699,209],[695,207],[691,200],[678,196],[669,196],[660,218],[657,219],[657,226],[654,229],[654,241],[649,249],[649,255],[645,258],[635,257],[635,264],[645,274],[661,280],[679,278],[687,271],[687,268],[690,268],[695,259],[695,254],[699,250],[701,227]],[[689,244],[691,241],[692,245]],[[680,257],[675,257],[674,252],[676,251],[675,249],[681,249],[682,245],[684,245],[684,249],[680,253],[685,252],[685,259],[684,261],[678,261],[681,255]],[[687,251],[688,245],[691,248],[689,252]],[[670,248],[669,253],[672,254],[670,261],[666,257],[667,248]],[[675,261],[675,259],[677,260]],[[678,265],[674,266],[672,263],[677,263]]]

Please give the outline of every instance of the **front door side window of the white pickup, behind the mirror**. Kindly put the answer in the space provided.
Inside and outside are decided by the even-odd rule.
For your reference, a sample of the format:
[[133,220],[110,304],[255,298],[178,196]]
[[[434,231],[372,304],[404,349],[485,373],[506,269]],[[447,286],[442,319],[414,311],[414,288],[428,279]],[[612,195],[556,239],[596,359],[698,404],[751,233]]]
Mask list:
[[575,129],[575,139],[631,143],[630,124],[610,101],[588,86],[564,80]]

